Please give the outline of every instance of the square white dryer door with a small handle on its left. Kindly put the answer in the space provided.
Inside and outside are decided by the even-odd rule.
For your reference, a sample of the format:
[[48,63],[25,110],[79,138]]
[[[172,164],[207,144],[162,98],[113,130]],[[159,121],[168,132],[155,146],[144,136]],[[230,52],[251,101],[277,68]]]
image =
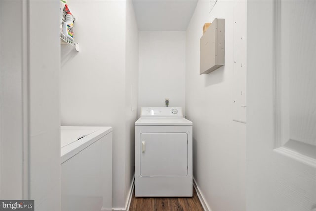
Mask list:
[[141,176],[186,176],[188,174],[187,133],[141,133]]

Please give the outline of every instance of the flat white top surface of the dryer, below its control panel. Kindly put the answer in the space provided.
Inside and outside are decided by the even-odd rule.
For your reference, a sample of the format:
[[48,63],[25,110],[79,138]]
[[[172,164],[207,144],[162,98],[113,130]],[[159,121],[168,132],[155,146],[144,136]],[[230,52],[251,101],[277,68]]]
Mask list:
[[141,117],[135,126],[192,126],[192,122],[183,117]]

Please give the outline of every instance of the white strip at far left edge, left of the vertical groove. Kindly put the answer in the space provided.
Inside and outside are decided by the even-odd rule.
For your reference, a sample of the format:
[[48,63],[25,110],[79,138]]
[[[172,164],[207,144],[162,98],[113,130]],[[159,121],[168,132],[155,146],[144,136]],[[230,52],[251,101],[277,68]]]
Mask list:
[[[0,198],[22,199],[28,179],[23,181],[23,145],[28,142],[24,136],[23,78],[27,70],[23,66],[22,47],[26,45],[23,36],[22,1],[0,1]],[[16,12],[20,11],[20,12]],[[10,21],[7,21],[10,20]],[[8,42],[13,39],[14,42]],[[24,91],[23,91],[24,90]],[[25,139],[25,140],[24,140]],[[15,167],[15,168],[12,168]]]

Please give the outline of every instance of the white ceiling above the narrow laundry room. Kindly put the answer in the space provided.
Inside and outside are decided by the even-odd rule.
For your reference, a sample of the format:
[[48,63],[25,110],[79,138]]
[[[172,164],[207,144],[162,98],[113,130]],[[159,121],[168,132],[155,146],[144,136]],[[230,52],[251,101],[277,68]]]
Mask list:
[[140,31],[185,31],[197,0],[133,0]]

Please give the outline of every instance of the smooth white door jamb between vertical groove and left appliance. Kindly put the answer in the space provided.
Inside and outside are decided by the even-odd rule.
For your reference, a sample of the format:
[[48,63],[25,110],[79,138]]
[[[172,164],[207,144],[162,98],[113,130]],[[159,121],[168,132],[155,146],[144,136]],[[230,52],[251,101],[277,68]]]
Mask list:
[[55,211],[60,209],[59,2],[31,0],[29,8],[30,199],[36,210]]

